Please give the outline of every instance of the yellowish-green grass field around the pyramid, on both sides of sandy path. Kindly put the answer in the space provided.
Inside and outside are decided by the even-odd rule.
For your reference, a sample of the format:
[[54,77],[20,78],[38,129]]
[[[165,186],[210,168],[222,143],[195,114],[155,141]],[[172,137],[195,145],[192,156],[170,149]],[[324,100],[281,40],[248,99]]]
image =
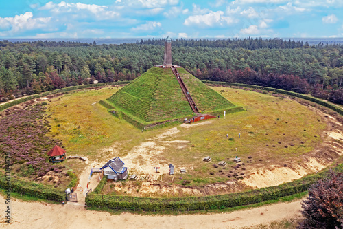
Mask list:
[[[320,133],[327,125],[316,112],[295,100],[228,87],[211,88],[235,105],[243,106],[246,111],[231,113],[225,120],[221,116],[192,128],[177,127],[180,132],[164,140],[187,140],[188,143],[166,145],[163,153],[156,156],[161,164],[172,162],[178,168],[193,167],[187,175],[182,175],[191,181],[191,185],[228,180],[226,175],[212,166],[220,160],[230,165],[236,155],[244,160],[251,155],[256,163],[250,166],[281,164],[292,158],[297,160],[298,155],[313,150],[316,144],[322,142]],[[108,98],[118,89],[78,91],[49,102],[50,134],[63,140],[68,155],[84,155],[89,160],[102,161],[107,156],[104,149],[114,146],[116,155],[124,157],[135,146],[169,129],[141,132],[125,120],[115,118],[99,103],[93,104]],[[238,138],[238,133],[241,133],[241,138]],[[212,162],[201,162],[207,155],[212,157]],[[259,162],[259,159],[262,161]],[[75,160],[69,160],[67,165],[75,168],[77,173],[83,168],[83,162]]]

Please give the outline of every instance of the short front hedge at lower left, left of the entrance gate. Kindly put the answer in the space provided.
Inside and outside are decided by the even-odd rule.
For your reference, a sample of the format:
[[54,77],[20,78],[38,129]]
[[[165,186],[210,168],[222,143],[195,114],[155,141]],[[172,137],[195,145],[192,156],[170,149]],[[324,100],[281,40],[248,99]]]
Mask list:
[[38,197],[40,199],[49,199],[54,201],[64,201],[65,193],[62,190],[56,190],[50,186],[45,186],[40,183],[27,182],[22,179],[10,178],[10,187],[6,181],[5,175],[0,173],[0,188],[9,190],[13,193],[21,193],[32,197]]

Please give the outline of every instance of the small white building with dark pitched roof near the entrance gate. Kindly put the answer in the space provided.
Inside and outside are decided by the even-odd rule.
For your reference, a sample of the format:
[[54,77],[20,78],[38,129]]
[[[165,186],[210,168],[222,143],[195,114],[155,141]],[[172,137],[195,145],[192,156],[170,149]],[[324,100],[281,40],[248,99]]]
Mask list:
[[125,163],[120,160],[119,157],[115,157],[109,160],[100,170],[103,171],[107,179],[127,179],[128,178],[128,168],[124,167]]

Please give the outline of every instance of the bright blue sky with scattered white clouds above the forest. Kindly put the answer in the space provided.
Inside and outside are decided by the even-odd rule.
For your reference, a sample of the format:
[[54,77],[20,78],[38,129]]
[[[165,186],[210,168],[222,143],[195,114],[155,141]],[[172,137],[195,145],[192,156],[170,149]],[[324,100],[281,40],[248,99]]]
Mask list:
[[343,0],[1,1],[0,38],[343,37]]

